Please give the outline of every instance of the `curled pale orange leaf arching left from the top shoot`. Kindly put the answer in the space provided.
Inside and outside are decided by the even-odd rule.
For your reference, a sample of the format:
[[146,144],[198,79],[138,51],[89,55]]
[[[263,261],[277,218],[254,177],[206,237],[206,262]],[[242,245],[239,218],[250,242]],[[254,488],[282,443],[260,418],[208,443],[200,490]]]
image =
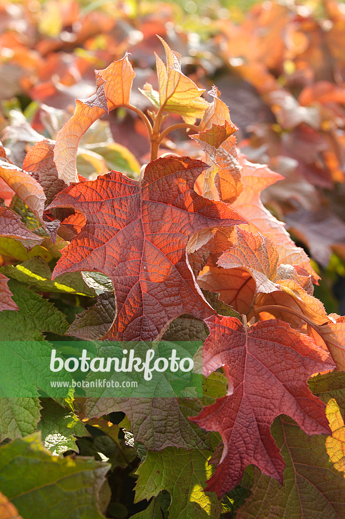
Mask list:
[[[104,91],[109,110],[113,110],[116,106],[129,104],[135,73],[127,55],[121,60],[114,61],[106,69],[96,71],[96,74],[99,81],[101,79],[105,81]],[[66,184],[78,182],[76,155],[80,139],[102,114],[104,114],[103,107],[94,103],[90,105],[90,100],[80,101],[77,99],[74,115],[58,132],[54,159],[59,172],[59,179]]]

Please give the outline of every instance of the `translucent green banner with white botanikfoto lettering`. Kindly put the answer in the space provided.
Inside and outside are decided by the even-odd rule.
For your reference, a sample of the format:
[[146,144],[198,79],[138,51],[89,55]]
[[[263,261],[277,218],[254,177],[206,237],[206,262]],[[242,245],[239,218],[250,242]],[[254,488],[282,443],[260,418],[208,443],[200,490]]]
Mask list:
[[201,397],[201,341],[0,342],[0,398]]

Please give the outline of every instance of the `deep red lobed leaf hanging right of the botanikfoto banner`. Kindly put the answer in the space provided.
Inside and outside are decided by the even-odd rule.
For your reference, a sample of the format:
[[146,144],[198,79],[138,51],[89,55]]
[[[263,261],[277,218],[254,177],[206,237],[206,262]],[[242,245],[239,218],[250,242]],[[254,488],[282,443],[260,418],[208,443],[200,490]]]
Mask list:
[[307,380],[334,368],[312,339],[279,320],[250,328],[231,317],[206,319],[210,335],[203,345],[203,374],[226,366],[226,397],[195,418],[200,427],[222,435],[222,460],[207,490],[223,495],[238,484],[247,465],[256,465],[282,483],[284,461],[270,432],[274,418],[291,416],[307,434],[329,434],[324,404]]

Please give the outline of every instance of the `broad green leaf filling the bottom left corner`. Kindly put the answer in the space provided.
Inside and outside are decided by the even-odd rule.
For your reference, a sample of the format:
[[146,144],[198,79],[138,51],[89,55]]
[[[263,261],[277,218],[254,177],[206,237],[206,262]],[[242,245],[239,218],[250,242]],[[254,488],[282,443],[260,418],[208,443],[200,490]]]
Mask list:
[[104,519],[98,493],[109,470],[91,458],[51,456],[39,434],[0,447],[0,490],[25,519]]

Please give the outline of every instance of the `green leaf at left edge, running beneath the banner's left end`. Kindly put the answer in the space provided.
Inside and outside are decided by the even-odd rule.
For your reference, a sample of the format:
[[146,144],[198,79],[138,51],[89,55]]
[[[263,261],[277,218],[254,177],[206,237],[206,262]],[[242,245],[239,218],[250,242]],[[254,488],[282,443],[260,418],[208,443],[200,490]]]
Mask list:
[[[37,388],[49,391],[51,346],[42,332],[63,334],[68,324],[49,301],[15,280],[9,281],[19,310],[0,312],[0,438],[17,438],[37,428],[40,404]],[[45,369],[43,369],[43,367]],[[65,396],[68,388],[58,390]]]

